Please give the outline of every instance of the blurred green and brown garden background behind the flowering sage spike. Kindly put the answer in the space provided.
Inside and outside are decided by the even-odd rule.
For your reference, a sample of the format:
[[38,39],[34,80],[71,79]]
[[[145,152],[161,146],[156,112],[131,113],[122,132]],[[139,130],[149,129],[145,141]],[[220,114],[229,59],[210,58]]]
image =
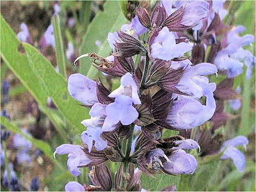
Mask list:
[[[155,2],[142,3],[150,6]],[[107,34],[128,23],[138,4],[138,1],[1,1],[1,15],[15,35],[28,31],[30,39],[27,42],[59,71],[54,43],[45,41],[45,37],[53,35],[49,27],[52,15],[59,13],[67,76],[78,72],[97,76],[99,74],[90,68],[89,60],[83,59],[74,66],[74,58],[89,52],[98,52],[106,57],[110,53]],[[227,1],[225,7],[228,9],[229,5]],[[234,7],[234,10],[229,10],[232,23],[245,26],[243,34],[255,36],[255,1],[241,1]],[[15,44],[9,36],[5,37],[2,30],[1,35],[10,41],[10,46]],[[247,49],[255,55],[255,43]],[[45,82],[41,82],[40,77],[36,78],[36,71],[43,73],[47,70],[41,69],[41,63],[32,67],[33,72],[32,68],[26,67],[22,47],[9,54],[13,57],[13,68],[10,68],[12,63],[6,65],[1,52],[1,116],[10,119],[3,124],[1,122],[1,191],[9,190],[4,179],[7,173],[17,175],[17,183],[15,181],[13,186],[19,184],[21,191],[62,191],[68,181],[88,183],[87,168],[74,178],[67,171],[66,156],[53,158],[53,152],[59,145],[81,144],[80,133],[84,127],[79,122],[89,117],[88,110],[75,101],[65,100],[66,82],[58,76],[49,73],[49,81]],[[221,77],[213,78],[213,81],[219,83]],[[49,88],[52,82],[59,83],[60,87]],[[115,79],[111,83],[112,87],[118,86]],[[157,191],[174,184],[183,191],[255,191],[255,66],[251,79],[245,78],[245,73],[235,78],[234,88],[238,86],[242,89],[241,107],[234,110],[229,102],[225,104],[225,111],[234,118],[222,126],[220,132],[227,138],[245,135],[249,139],[247,150],[243,151],[247,161],[245,172],[238,172],[231,161],[211,157],[209,161],[206,159],[199,163],[193,175],[174,177],[159,174],[155,178],[143,175],[143,188]],[[45,87],[52,98],[45,93]],[[13,167],[8,166],[9,163]],[[109,163],[109,166],[114,174],[118,166],[114,163]]]

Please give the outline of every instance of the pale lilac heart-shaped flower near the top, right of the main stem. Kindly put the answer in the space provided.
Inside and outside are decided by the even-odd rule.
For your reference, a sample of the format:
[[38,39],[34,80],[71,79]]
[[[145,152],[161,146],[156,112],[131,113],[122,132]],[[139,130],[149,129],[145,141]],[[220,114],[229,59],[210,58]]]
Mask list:
[[181,42],[176,44],[175,38],[177,35],[164,27],[151,45],[151,56],[155,59],[169,61],[173,58],[183,56],[184,53],[192,49],[191,44]]

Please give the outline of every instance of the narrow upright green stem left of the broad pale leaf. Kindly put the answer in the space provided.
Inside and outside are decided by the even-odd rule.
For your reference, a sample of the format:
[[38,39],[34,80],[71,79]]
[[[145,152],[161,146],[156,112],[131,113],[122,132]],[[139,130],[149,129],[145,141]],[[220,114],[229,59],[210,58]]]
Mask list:
[[66,75],[66,61],[65,54],[63,50],[63,42],[60,30],[60,18],[58,14],[53,15],[52,17],[52,25],[53,25],[53,34],[55,40],[55,54],[57,59],[57,65],[60,69],[60,74],[67,78]]

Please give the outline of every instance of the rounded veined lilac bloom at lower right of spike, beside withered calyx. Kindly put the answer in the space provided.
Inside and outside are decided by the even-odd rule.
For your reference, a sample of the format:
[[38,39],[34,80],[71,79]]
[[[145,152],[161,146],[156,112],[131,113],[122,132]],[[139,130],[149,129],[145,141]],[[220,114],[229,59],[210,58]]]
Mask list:
[[169,174],[193,174],[197,167],[196,158],[182,149],[175,150],[169,160],[163,164],[164,171]]

